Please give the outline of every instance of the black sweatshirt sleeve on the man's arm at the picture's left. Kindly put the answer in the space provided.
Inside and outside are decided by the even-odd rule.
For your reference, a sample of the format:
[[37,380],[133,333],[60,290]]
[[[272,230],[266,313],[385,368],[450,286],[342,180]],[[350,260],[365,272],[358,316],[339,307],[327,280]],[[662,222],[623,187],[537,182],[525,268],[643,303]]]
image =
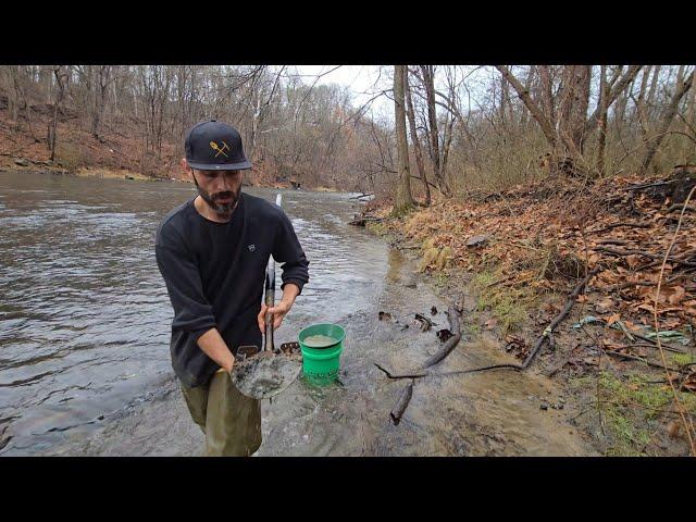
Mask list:
[[198,266],[188,249],[171,238],[158,237],[154,250],[174,309],[172,330],[188,332],[194,341],[198,341],[201,335],[216,326]]

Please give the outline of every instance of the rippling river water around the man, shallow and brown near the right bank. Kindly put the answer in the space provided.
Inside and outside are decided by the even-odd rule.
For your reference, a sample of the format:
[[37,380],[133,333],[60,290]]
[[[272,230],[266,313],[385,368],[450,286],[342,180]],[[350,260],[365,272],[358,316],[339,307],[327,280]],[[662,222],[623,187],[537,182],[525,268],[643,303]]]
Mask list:
[[[276,191],[245,189],[274,200]],[[192,188],[169,183],[0,173],[0,455],[199,455],[170,365],[171,307],[154,229]],[[446,303],[401,254],[346,225],[347,195],[284,191],[311,282],[276,333],[345,326],[340,382],[297,381],[263,401],[261,456],[591,455],[543,377],[488,372],[419,381],[402,422],[389,410],[439,341],[413,313],[447,326]],[[278,279],[279,279],[279,270]],[[431,315],[431,307],[438,310]],[[378,312],[393,320],[381,322]],[[467,318],[463,318],[464,325]],[[467,335],[438,371],[498,362]]]

